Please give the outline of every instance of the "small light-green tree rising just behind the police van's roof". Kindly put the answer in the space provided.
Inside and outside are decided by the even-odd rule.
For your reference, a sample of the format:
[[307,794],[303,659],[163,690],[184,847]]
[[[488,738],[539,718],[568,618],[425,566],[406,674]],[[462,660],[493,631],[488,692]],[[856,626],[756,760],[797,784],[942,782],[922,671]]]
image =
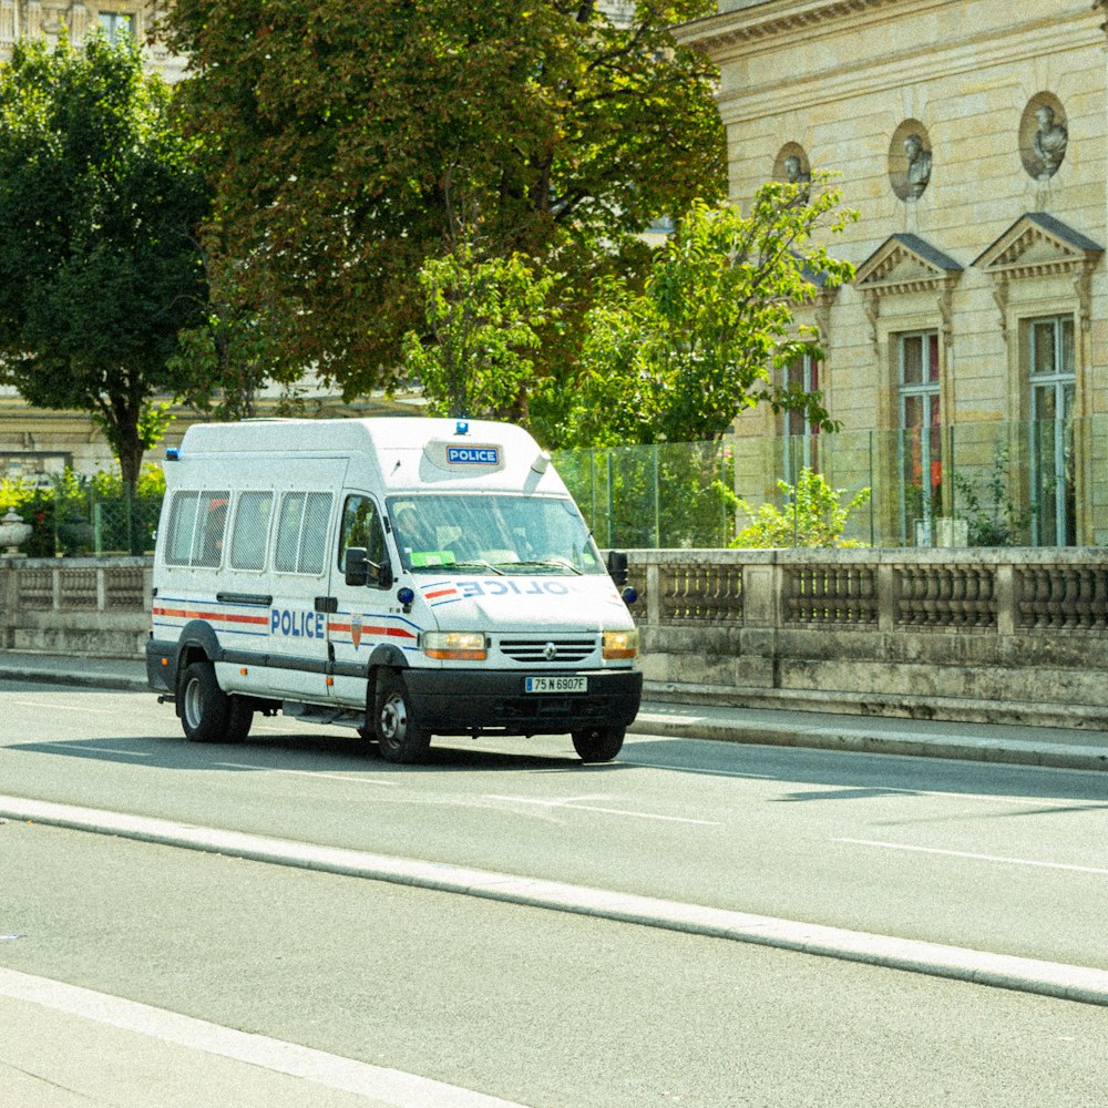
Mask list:
[[435,414],[525,420],[534,381],[535,327],[552,312],[555,278],[536,277],[520,254],[480,258],[462,237],[420,270],[425,335],[404,336],[404,365]]

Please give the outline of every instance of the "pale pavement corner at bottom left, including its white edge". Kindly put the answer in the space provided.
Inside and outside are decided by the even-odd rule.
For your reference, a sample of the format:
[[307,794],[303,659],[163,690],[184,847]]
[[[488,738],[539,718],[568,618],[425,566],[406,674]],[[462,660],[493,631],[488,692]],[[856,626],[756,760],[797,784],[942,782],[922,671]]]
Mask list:
[[3,1108],[519,1108],[3,968],[0,1024]]

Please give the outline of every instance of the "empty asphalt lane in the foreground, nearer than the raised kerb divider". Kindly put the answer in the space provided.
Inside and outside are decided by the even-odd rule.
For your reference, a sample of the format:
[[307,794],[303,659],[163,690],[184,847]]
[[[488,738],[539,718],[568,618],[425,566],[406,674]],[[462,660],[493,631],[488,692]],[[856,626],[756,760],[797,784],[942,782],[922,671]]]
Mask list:
[[16,821],[0,859],[9,970],[534,1108],[1104,1100],[1090,1005]]

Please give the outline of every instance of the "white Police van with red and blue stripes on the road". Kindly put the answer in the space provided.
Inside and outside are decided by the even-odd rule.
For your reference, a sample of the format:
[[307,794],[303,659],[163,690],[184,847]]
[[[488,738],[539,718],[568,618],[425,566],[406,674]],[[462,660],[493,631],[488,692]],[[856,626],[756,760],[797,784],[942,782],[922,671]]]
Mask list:
[[634,591],[522,429],[199,424],[165,476],[146,669],[189,739],[238,741],[284,710],[397,762],[432,735],[618,753],[643,685]]

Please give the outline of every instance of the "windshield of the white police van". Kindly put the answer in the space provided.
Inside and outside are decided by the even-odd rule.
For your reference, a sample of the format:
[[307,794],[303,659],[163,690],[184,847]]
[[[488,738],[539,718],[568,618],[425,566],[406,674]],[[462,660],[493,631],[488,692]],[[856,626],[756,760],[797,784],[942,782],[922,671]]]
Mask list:
[[605,573],[596,544],[567,497],[392,496],[393,536],[404,568],[441,573]]

